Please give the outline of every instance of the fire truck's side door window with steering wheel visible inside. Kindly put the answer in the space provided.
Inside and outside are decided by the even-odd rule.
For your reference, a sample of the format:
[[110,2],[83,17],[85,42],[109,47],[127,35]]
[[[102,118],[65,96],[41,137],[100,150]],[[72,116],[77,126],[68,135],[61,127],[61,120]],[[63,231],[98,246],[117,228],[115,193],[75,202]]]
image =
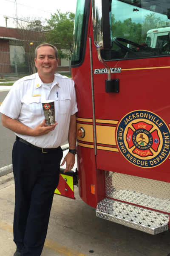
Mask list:
[[105,60],[170,54],[170,0],[112,0],[112,49]]

